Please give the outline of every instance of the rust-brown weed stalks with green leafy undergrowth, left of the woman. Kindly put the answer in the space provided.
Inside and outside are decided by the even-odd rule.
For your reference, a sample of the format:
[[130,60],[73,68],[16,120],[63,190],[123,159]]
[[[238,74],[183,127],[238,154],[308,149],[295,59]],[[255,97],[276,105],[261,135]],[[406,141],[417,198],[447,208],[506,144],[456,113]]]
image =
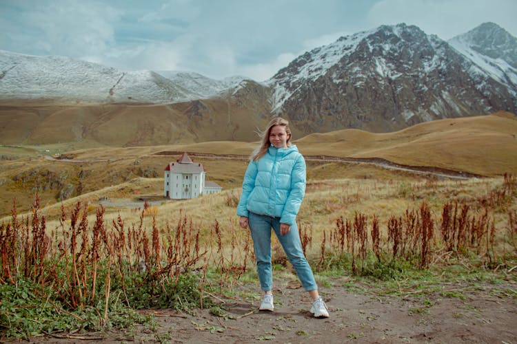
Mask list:
[[[149,319],[138,308],[191,310],[210,306],[204,275],[192,270],[202,252],[199,235],[179,222],[175,239],[152,241],[142,229],[127,228],[119,216],[107,230],[101,208],[88,230],[88,207],[77,203],[67,221],[61,212],[61,237],[52,239],[34,198],[31,220],[19,221],[14,206],[9,224],[0,224],[0,335],[34,336],[45,332],[130,329]],[[66,228],[66,224],[69,227]],[[194,233],[194,235],[192,235]],[[167,250],[162,251],[162,248]],[[163,264],[161,257],[166,259]],[[133,262],[139,262],[134,264]],[[176,262],[183,264],[180,266]]]

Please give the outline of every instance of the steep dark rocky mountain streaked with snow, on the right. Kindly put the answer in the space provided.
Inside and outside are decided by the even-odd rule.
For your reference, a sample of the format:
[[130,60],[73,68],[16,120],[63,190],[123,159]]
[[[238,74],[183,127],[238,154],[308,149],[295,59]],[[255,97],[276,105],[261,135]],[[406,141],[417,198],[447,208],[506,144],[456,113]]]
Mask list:
[[[475,43],[480,36],[497,42],[500,34],[509,36],[482,25],[458,39],[463,50],[403,23],[341,37],[299,56],[267,81],[273,110],[313,131],[387,131],[438,118],[515,113],[517,80],[505,62],[516,56],[515,39],[503,39],[506,55],[493,58],[485,52],[497,47]],[[479,46],[484,50],[476,52]]]

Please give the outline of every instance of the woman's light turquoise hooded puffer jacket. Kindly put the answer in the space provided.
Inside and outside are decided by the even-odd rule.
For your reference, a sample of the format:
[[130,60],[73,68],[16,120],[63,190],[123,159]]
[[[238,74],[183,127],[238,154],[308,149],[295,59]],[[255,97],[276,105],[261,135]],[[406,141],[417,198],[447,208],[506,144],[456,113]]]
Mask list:
[[237,215],[247,217],[251,211],[294,224],[305,195],[305,170],[305,159],[296,145],[270,147],[263,158],[247,166]]

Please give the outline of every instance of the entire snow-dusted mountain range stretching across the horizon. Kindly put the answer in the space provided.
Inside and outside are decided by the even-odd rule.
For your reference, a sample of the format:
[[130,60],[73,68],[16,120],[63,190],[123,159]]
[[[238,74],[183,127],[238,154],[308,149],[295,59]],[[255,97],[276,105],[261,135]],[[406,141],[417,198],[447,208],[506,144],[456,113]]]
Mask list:
[[[494,23],[448,42],[401,23],[343,36],[305,52],[265,83],[243,76],[213,80],[192,72],[122,71],[0,50],[0,100],[119,104],[124,111],[134,110],[125,109],[128,104],[172,104],[154,109],[161,127],[146,123],[140,136],[128,129],[128,140],[121,138],[126,144],[133,144],[135,135],[147,138],[163,131],[163,118],[174,118],[174,133],[189,132],[196,140],[253,140],[249,133],[254,127],[275,114],[290,119],[297,137],[344,128],[394,131],[496,111],[516,114],[516,71],[517,39]],[[108,117],[92,119],[88,135],[97,139],[94,128]],[[191,128],[181,127],[183,122]],[[34,130],[20,132],[34,136]],[[85,135],[81,130],[77,136]]]

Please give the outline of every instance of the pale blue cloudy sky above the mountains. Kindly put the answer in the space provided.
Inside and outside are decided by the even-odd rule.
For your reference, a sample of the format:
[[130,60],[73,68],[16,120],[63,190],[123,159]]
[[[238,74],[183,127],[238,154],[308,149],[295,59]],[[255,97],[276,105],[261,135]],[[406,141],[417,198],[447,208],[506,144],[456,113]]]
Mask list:
[[517,36],[516,14],[516,0],[0,0],[0,50],[262,81],[379,25],[447,40],[492,21]]

